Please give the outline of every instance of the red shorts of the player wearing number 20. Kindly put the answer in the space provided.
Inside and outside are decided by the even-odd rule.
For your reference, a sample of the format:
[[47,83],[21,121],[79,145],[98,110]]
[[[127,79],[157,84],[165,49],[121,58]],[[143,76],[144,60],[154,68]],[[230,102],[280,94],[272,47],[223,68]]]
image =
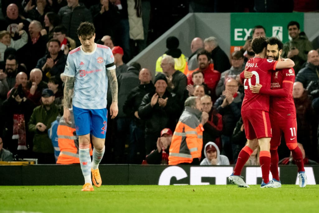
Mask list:
[[246,110],[241,112],[246,138],[271,138],[269,113],[263,110]]

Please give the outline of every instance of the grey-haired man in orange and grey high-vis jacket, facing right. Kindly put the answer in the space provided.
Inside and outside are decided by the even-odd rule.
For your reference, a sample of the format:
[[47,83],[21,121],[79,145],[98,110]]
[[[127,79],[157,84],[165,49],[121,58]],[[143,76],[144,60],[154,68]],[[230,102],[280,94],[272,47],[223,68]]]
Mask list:
[[176,125],[169,148],[168,165],[198,164],[202,155],[202,105],[198,97],[189,97]]

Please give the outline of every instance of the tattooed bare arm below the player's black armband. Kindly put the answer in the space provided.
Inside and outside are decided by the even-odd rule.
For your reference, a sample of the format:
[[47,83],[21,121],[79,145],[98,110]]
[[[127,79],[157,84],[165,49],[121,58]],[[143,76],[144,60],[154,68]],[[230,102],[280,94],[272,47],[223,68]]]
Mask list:
[[115,118],[118,113],[118,106],[117,106],[117,92],[118,92],[118,87],[117,87],[117,79],[116,79],[116,74],[115,74],[115,69],[108,70],[108,81],[109,81],[109,87],[111,90],[112,94],[112,103],[110,106],[110,115],[112,116],[111,118]]

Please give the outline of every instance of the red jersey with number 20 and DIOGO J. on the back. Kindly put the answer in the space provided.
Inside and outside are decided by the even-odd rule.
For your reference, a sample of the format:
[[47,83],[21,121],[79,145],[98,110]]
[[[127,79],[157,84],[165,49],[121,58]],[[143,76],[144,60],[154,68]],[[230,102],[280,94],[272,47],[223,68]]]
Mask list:
[[252,93],[249,86],[261,84],[264,88],[270,88],[271,73],[276,70],[278,61],[271,59],[253,57],[248,60],[246,67],[252,72],[250,79],[244,80],[245,96],[242,102],[241,111],[264,110],[269,112],[269,95]]

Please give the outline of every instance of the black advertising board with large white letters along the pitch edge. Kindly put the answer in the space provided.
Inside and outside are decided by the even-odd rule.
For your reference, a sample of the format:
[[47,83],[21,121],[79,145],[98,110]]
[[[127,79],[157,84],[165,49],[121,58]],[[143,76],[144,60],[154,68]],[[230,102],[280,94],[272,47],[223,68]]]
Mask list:
[[[226,185],[231,166],[102,164],[103,185]],[[308,185],[319,184],[319,165],[306,166]],[[297,166],[279,166],[282,184],[298,184]],[[246,166],[242,176],[247,184],[261,184],[261,169]],[[271,175],[270,175],[270,178]],[[79,164],[72,165],[0,165],[0,185],[83,185]]]

